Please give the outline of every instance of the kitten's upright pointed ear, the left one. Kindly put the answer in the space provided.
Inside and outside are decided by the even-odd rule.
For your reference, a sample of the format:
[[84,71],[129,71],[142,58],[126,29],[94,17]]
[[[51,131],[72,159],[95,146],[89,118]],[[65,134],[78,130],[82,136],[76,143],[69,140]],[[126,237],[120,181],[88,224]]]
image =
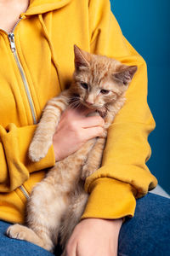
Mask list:
[[88,52],[80,49],[75,44],[74,53],[75,53],[75,67],[77,70],[89,67],[90,55],[88,54]]

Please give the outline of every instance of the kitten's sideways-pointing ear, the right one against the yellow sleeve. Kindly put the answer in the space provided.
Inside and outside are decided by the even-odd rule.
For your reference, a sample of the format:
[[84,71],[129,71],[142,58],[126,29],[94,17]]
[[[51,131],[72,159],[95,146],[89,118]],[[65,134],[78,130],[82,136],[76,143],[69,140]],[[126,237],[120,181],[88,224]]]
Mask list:
[[113,77],[117,82],[127,85],[132,81],[133,75],[136,73],[137,69],[137,66],[127,67],[123,65],[122,69],[119,69],[119,72],[113,74]]

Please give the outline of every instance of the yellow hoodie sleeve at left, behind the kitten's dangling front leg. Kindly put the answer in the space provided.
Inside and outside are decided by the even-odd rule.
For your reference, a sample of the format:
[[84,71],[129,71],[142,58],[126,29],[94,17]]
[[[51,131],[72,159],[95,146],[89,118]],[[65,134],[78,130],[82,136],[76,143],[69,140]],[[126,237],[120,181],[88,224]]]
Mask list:
[[18,128],[10,124],[6,130],[0,126],[0,192],[9,192],[20,187],[29,178],[30,172],[54,166],[53,146],[39,162],[32,163],[28,159],[27,150],[35,129],[36,125]]

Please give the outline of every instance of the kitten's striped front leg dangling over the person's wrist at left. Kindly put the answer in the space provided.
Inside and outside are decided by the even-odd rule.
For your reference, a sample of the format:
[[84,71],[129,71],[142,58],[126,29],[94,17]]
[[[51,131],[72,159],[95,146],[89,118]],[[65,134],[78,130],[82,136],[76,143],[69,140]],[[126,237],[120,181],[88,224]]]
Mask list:
[[64,93],[48,101],[29,148],[29,158],[32,161],[37,162],[48,153],[48,148],[53,143],[54,132],[59,124],[60,115],[67,104],[68,97],[64,96]]

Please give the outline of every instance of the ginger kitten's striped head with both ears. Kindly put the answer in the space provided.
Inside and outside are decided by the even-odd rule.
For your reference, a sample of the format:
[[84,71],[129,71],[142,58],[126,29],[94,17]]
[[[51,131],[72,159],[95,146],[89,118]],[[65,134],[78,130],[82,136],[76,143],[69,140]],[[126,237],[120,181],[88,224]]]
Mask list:
[[136,66],[102,55],[92,55],[74,46],[75,73],[71,93],[88,108],[105,108],[123,95],[137,71]]

